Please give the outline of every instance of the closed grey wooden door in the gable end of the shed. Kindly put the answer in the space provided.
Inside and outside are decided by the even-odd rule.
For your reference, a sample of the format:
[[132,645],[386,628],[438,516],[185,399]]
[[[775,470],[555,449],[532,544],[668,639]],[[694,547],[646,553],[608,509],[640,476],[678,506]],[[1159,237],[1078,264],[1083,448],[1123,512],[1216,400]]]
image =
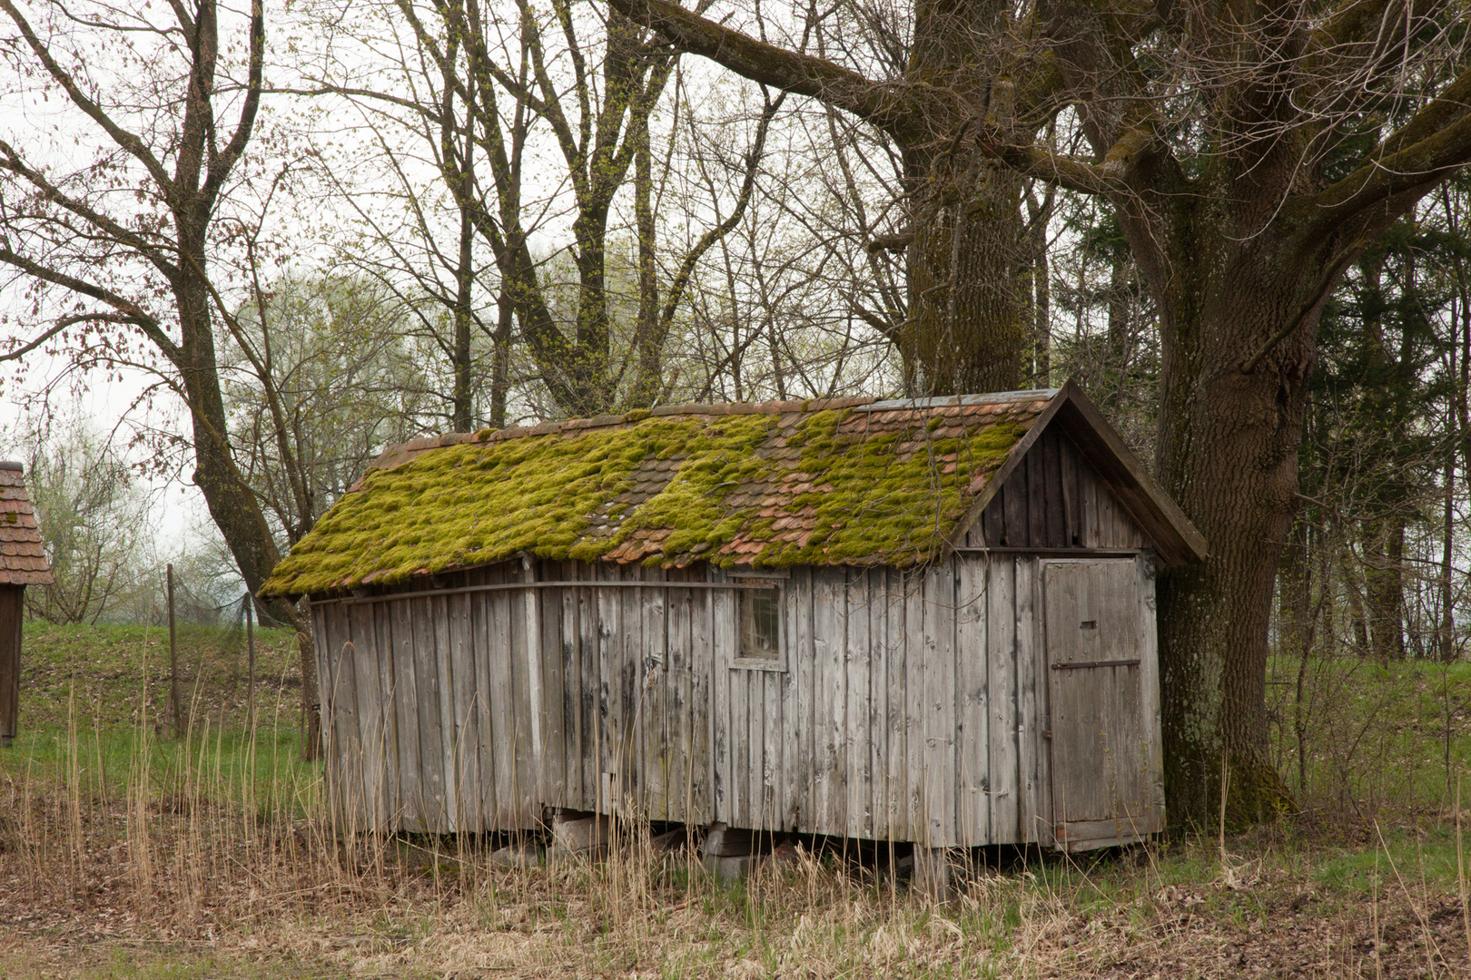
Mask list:
[[1162,829],[1152,792],[1153,617],[1133,558],[1044,563],[1052,796],[1058,846],[1137,840]]

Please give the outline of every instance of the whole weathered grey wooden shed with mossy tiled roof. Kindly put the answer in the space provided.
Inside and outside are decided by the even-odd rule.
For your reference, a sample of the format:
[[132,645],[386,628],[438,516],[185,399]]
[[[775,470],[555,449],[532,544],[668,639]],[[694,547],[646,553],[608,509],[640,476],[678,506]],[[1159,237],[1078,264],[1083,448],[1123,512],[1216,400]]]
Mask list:
[[416,439],[263,592],[352,827],[1083,849],[1164,827],[1153,576],[1203,555],[1069,383]]

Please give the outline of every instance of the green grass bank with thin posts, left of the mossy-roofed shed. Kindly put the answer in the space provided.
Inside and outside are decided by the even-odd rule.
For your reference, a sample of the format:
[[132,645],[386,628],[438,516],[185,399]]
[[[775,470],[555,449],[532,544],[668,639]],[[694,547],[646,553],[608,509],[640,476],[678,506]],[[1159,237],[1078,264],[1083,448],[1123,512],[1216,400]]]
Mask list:
[[21,786],[75,776],[82,792],[118,793],[146,771],[160,796],[207,785],[210,796],[306,813],[321,767],[300,761],[293,633],[256,632],[253,739],[243,630],[179,626],[175,639],[187,738],[168,724],[166,627],[26,623],[19,735],[0,751],[0,773]]

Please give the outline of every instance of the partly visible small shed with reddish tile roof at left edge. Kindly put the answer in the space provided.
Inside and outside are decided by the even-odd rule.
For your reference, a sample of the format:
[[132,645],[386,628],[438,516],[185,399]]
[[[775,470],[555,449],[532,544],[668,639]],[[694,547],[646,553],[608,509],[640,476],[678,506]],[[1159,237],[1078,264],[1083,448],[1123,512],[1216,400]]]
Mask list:
[[50,585],[35,507],[19,463],[0,461],[0,743],[9,745],[21,718],[21,623],[25,586]]

